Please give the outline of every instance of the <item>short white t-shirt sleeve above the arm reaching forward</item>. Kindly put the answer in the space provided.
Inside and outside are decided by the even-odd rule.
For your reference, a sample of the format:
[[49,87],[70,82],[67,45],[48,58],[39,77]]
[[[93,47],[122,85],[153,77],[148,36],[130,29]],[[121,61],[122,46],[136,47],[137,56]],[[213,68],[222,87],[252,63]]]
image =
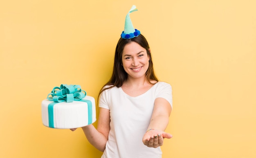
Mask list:
[[170,84],[165,83],[162,84],[161,87],[159,87],[159,91],[156,95],[156,98],[164,98],[166,99],[170,104],[171,107],[173,108],[173,90]]

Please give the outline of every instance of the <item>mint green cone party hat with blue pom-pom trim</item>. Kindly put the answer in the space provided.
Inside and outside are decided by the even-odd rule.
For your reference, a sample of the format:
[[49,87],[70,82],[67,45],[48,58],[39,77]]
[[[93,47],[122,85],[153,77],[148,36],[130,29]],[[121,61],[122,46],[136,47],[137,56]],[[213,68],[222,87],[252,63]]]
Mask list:
[[129,38],[134,38],[140,35],[140,31],[137,29],[134,29],[132,25],[132,21],[130,19],[130,13],[138,11],[135,5],[132,6],[128,14],[126,15],[125,18],[125,24],[124,24],[124,31],[121,34],[121,38],[124,39],[129,39]]

